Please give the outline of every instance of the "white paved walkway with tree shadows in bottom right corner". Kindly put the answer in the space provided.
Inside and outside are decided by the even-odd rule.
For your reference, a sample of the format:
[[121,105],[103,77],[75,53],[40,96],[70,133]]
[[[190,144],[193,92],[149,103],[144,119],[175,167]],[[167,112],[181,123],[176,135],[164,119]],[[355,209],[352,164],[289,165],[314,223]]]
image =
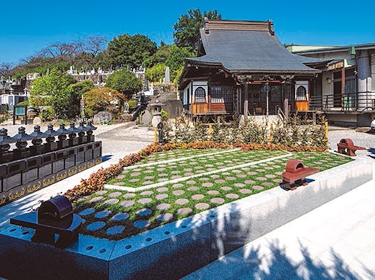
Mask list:
[[375,180],[184,279],[375,279]]

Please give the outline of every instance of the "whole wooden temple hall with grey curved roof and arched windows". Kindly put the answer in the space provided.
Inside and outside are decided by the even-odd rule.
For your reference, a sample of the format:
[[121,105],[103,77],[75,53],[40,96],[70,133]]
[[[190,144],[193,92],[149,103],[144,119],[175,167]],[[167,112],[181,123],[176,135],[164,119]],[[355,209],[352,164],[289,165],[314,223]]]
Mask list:
[[320,63],[288,52],[272,21],[205,19],[197,57],[180,77],[183,104],[193,117],[276,114],[284,104],[308,110]]

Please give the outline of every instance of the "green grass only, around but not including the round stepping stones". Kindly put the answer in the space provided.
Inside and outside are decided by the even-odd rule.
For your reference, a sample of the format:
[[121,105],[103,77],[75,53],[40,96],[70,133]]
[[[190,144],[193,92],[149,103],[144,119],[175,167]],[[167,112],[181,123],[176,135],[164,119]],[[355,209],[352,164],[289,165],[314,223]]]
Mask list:
[[[192,152],[192,151],[188,151]],[[203,152],[200,150],[200,152]],[[219,167],[217,162],[224,162],[225,166],[227,167],[227,164],[232,164],[236,163],[237,165],[243,164],[246,162],[254,162],[254,161],[259,161],[261,159],[266,159],[269,157],[276,157],[278,155],[285,155],[286,152],[282,151],[238,151],[238,152],[230,152],[228,154],[222,154],[222,155],[217,155],[217,156],[212,156],[212,158],[209,157],[200,157],[199,160],[198,158],[195,158],[193,161],[195,161],[195,164],[191,164],[189,161],[186,161],[185,164],[186,166],[181,166],[183,162],[178,162],[178,164],[175,165],[170,165],[166,164],[163,172],[168,174],[168,178],[170,178],[171,172],[174,170],[181,170],[184,168],[192,168],[194,171],[194,174],[197,174],[196,172],[199,170],[204,170],[207,171],[207,164],[212,164],[213,167],[210,168],[222,168]],[[191,154],[189,154],[191,155]],[[211,156],[210,156],[211,157]],[[102,196],[104,197],[104,200],[98,203],[89,203],[90,199],[99,196],[98,194],[92,194],[92,196],[88,196],[84,200],[78,201],[75,203],[75,213],[80,213],[80,211],[84,210],[85,208],[95,208],[95,213],[98,211],[103,211],[103,210],[108,210],[112,211],[112,214],[108,218],[104,219],[97,219],[94,218],[95,213],[92,213],[91,215],[84,216],[86,220],[85,225],[88,225],[89,223],[93,223],[94,221],[102,220],[106,223],[104,228],[101,230],[96,230],[96,231],[89,231],[85,228],[85,225],[82,227],[82,233],[87,234],[87,235],[94,235],[96,237],[103,237],[103,238],[108,238],[108,239],[114,239],[114,240],[119,240],[124,237],[129,237],[131,235],[136,235],[138,233],[141,233],[145,230],[150,230],[151,228],[156,228],[160,225],[163,225],[164,223],[170,223],[173,220],[179,220],[181,218],[185,218],[189,215],[194,215],[196,213],[200,213],[205,210],[199,210],[195,208],[196,203],[208,203],[209,208],[215,208],[218,206],[216,203],[212,203],[210,201],[211,198],[223,198],[224,203],[219,204],[219,205],[224,205],[225,203],[230,203],[232,201],[236,201],[238,199],[244,198],[246,196],[250,196],[252,194],[259,193],[260,191],[265,191],[267,189],[272,189],[273,187],[278,186],[278,184],[281,182],[281,172],[285,169],[286,162],[288,162],[289,159],[301,159],[303,160],[303,163],[305,164],[305,167],[315,167],[318,168],[320,171],[323,171],[325,169],[330,169],[332,167],[338,166],[340,164],[344,164],[347,162],[352,161],[349,157],[343,157],[342,155],[335,155],[331,152],[293,152],[293,156],[291,157],[285,157],[282,159],[276,159],[271,162],[265,162],[261,164],[257,164],[256,166],[250,166],[250,167],[243,167],[239,169],[234,169],[231,171],[227,172],[220,172],[216,174],[211,174],[211,175],[202,175],[202,177],[197,177],[194,179],[188,179],[186,181],[180,181],[177,184],[180,184],[178,188],[173,187],[175,184],[166,184],[165,186],[162,186],[162,188],[166,188],[166,191],[163,192],[162,194],[167,194],[167,198],[163,198],[161,200],[157,200],[156,196],[158,196],[161,193],[158,193],[156,189],[148,189],[147,191],[152,191],[152,194],[148,196],[143,196],[142,193],[143,191],[139,191],[135,193],[134,198],[124,198],[124,194],[129,194],[127,191],[117,191],[117,190],[106,190],[107,193],[103,194]],[[237,161],[238,159],[238,161]],[[205,161],[206,160],[206,161]],[[155,166],[155,168],[158,168]],[[131,172],[134,172],[135,169],[132,169]],[[152,169],[153,173],[150,174],[160,174],[161,172]],[[138,179],[144,179],[148,174],[144,174],[145,169],[143,167],[140,167],[138,172],[140,175],[137,177]],[[129,171],[130,172],[130,171]],[[256,174],[248,174],[249,172],[256,172]],[[238,174],[241,174],[240,177],[237,176]],[[267,177],[272,177],[274,178],[267,178]],[[232,178],[231,178],[232,177]],[[124,177],[122,181],[124,181],[124,184],[128,186],[136,186],[137,184],[128,184],[126,183],[126,179],[129,178],[134,178],[134,177]],[[207,178],[206,181],[202,181],[201,178]],[[265,178],[265,180],[261,180],[261,178]],[[115,180],[115,179],[114,179]],[[217,180],[222,180],[217,182]],[[252,180],[254,181],[251,184],[246,184],[247,180]],[[195,181],[194,184],[190,184],[192,181]],[[212,183],[212,186],[207,187],[204,186],[205,183]],[[266,183],[266,184],[265,184]],[[244,187],[237,187],[239,186],[238,184],[244,184]],[[139,184],[138,184],[139,185]],[[191,186],[196,186],[197,189],[191,190],[189,189]],[[227,186],[232,188],[230,191],[225,191],[222,189],[222,187]],[[255,190],[252,189],[252,186],[263,186],[263,189],[261,190]],[[249,189],[251,190],[251,193],[249,194],[242,194],[241,189]],[[173,193],[176,190],[182,190],[184,191],[184,194],[182,195],[177,195]],[[207,191],[217,191],[217,194],[210,195],[207,194]],[[110,194],[114,192],[119,192],[121,193],[120,196],[116,197],[119,199],[119,202],[114,204],[114,205],[108,205],[104,203],[104,201],[107,201],[107,199],[110,199],[111,197],[109,196]],[[227,194],[236,194],[238,198],[228,198],[226,195]],[[194,201],[191,197],[195,194],[202,194],[205,197],[202,198],[199,201]],[[151,198],[150,203],[142,204],[139,202],[139,199],[141,198]],[[178,198],[187,198],[189,202],[183,206],[178,205],[175,203],[175,201]],[[133,206],[130,207],[123,207],[120,205],[122,201],[126,200],[133,200],[135,201]],[[170,208],[168,208],[165,211],[159,210],[156,208],[156,206],[159,203],[168,203],[170,204]],[[189,213],[188,215],[180,215],[178,214],[178,209],[179,208],[191,208],[192,212]],[[136,211],[140,210],[141,208],[149,208],[151,209],[152,213],[151,215],[148,215],[146,217],[140,217],[136,215]],[[127,220],[123,221],[114,221],[111,219],[113,215],[116,213],[129,213],[129,218]],[[161,214],[161,213],[170,213],[173,215],[173,220],[169,220],[168,222],[161,222],[159,220],[156,220],[156,217]],[[144,218],[147,218],[150,221],[150,225],[145,228],[145,229],[137,229],[133,226],[133,223],[136,220],[143,220]],[[107,235],[106,230],[113,225],[123,225],[125,227],[125,230],[123,233],[120,235]]]

